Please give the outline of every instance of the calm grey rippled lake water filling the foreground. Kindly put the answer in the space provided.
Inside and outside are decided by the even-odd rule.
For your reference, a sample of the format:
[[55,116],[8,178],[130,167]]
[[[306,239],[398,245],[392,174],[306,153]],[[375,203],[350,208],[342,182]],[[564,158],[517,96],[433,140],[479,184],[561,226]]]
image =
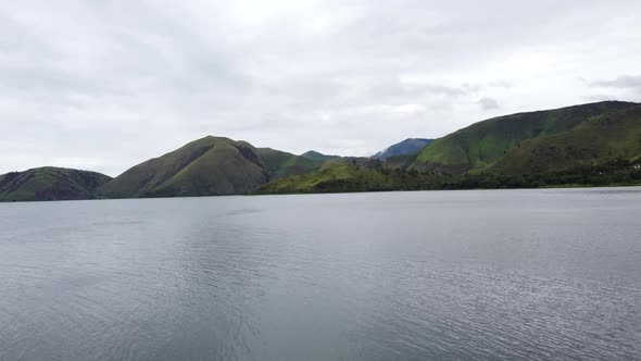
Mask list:
[[0,360],[641,360],[641,188],[0,203]]

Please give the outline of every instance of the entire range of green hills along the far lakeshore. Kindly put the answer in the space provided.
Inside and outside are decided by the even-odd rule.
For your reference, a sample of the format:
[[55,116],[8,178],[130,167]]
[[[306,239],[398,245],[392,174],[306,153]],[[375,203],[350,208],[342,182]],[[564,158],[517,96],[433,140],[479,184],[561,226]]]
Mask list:
[[479,122],[385,160],[208,136],[111,180],[55,167],[0,175],[0,200],[632,184],[641,184],[641,104],[608,101]]

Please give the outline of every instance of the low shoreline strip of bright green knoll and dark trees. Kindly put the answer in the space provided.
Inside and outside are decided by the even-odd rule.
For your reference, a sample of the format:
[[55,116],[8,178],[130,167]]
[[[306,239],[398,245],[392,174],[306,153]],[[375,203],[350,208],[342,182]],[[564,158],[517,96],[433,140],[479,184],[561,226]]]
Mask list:
[[524,175],[447,174],[416,170],[336,166],[288,176],[255,194],[312,194],[382,190],[501,189],[641,185],[641,160],[613,160],[564,171]]

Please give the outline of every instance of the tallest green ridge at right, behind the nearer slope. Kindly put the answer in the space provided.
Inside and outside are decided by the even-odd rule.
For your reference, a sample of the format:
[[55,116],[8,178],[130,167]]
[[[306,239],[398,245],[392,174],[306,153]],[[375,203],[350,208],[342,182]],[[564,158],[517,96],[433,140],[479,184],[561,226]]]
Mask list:
[[435,140],[420,151],[411,169],[448,173],[483,169],[526,139],[568,132],[591,116],[636,105],[604,101],[482,121]]

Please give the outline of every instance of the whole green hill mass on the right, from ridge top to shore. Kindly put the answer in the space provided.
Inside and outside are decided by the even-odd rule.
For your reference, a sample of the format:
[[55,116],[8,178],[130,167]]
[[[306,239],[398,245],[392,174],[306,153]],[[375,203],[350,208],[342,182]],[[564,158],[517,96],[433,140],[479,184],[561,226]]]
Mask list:
[[319,171],[277,179],[257,192],[640,183],[641,104],[601,102],[476,123],[420,153],[390,157],[379,164],[330,160]]

